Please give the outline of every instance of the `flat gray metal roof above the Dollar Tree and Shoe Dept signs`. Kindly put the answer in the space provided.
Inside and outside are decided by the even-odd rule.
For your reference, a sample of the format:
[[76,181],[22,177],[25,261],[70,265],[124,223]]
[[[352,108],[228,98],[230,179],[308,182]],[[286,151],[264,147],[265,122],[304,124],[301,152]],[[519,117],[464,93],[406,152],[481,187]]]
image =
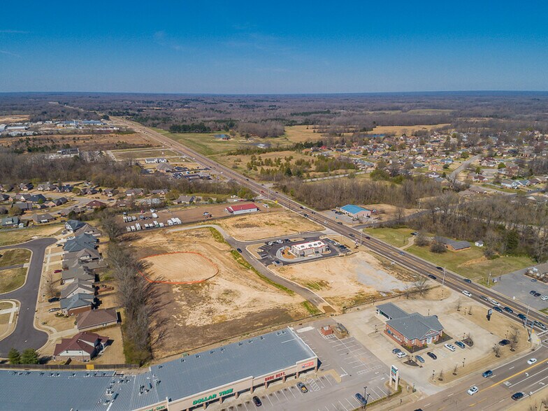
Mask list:
[[242,340],[152,366],[160,398],[185,398],[246,377],[259,377],[315,357],[291,329]]

